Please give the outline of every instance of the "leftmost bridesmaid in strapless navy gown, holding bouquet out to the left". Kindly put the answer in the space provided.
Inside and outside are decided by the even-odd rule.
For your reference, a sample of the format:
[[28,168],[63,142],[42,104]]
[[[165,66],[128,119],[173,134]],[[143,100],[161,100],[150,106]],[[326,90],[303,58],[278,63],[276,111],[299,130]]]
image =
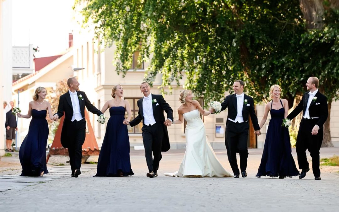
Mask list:
[[45,101],[47,91],[43,87],[35,89],[33,101],[29,102],[28,113],[22,115],[17,113],[19,118],[31,118],[28,134],[23,140],[19,159],[22,166],[20,176],[43,176],[47,174],[46,166],[46,145],[48,138],[48,124],[46,114],[53,121],[51,104]]

